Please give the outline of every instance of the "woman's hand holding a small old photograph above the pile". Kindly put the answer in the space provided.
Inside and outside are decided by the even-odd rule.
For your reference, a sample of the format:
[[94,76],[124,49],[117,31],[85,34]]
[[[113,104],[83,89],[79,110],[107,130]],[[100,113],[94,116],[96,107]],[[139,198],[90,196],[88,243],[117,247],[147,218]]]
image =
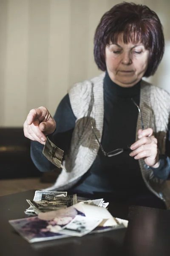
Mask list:
[[55,131],[56,122],[45,107],[34,108],[29,112],[24,122],[24,135],[41,144],[45,144],[45,135]]

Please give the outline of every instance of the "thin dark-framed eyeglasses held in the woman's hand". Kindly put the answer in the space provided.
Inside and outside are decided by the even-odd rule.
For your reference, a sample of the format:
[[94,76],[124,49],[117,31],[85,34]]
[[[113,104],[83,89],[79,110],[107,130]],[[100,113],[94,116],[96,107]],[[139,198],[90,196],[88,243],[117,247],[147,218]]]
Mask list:
[[[134,103],[134,104],[136,105],[136,107],[138,108],[139,115],[140,115],[140,119],[141,119],[142,130],[144,130],[144,124],[143,124],[143,119],[142,119],[141,110],[140,110],[139,106],[136,104],[136,102],[135,102],[133,99],[131,99],[131,100],[133,101],[133,103]],[[92,128],[92,130],[93,130],[93,132],[94,132],[94,135],[95,135],[95,137],[96,137],[97,142],[99,143],[100,149],[102,150],[102,153],[104,154],[105,157],[113,157],[113,156],[116,156],[116,155],[118,155],[118,154],[121,154],[121,153],[124,152],[124,151],[130,150],[130,146],[127,146],[126,148],[117,148],[117,149],[115,149],[115,150],[113,150],[113,151],[111,151],[111,152],[108,152],[108,153],[105,152],[105,150],[103,149],[103,147],[102,147],[101,143],[99,142],[99,140],[98,140],[98,138],[97,138],[97,135],[96,135],[96,133],[95,133],[95,131],[94,131],[94,128],[93,128],[93,124],[92,124],[92,120],[91,120],[91,116],[90,116],[90,115],[89,115],[89,118],[90,118],[90,122],[91,122],[91,128]]]

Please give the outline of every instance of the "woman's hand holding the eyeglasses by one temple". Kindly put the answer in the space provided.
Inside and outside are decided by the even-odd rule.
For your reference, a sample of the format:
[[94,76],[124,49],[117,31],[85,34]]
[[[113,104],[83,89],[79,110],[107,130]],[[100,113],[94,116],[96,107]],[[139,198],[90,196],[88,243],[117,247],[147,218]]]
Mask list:
[[153,136],[153,130],[151,128],[140,129],[138,138],[139,140],[130,146],[132,150],[130,156],[136,160],[144,158],[144,162],[150,167],[159,167],[157,139]]

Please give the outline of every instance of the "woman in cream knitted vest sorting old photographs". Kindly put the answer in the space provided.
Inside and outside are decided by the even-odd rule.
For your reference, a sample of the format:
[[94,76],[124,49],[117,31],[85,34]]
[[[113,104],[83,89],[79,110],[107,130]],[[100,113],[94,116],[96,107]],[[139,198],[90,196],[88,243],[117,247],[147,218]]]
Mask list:
[[156,72],[163,53],[159,17],[147,6],[124,2],[102,16],[94,58],[105,72],[75,84],[54,118],[40,107],[24,123],[40,171],[55,167],[42,155],[46,135],[64,150],[67,172],[49,190],[170,207],[170,95],[142,80]]

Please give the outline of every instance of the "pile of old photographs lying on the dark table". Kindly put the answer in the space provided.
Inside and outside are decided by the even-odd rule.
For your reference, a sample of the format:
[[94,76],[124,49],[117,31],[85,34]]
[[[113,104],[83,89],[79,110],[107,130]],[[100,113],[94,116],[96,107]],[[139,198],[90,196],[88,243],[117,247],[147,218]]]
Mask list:
[[128,224],[111,215],[103,198],[83,201],[67,192],[36,191],[34,199],[27,202],[28,217],[9,223],[30,243],[126,228]]

